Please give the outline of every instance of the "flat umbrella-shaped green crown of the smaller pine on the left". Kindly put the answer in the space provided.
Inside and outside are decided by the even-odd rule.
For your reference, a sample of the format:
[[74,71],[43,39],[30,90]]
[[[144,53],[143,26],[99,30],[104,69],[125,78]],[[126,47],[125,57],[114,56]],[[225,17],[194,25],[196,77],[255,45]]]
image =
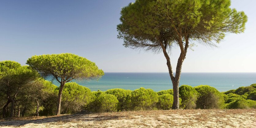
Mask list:
[[27,64],[43,77],[53,76],[56,79],[90,79],[104,75],[94,62],[70,53],[35,55],[27,60]]

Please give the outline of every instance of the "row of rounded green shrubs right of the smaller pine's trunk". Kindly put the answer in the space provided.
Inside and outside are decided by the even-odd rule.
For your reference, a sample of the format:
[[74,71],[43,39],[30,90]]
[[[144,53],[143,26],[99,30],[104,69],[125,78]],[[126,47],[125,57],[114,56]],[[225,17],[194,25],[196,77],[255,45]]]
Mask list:
[[[179,94],[182,109],[256,108],[256,84],[222,93],[208,85],[181,85]],[[63,89],[62,113],[82,109],[90,112],[169,110],[172,104],[173,89],[155,92],[145,88],[134,91],[114,88],[91,92],[73,82],[67,83]]]

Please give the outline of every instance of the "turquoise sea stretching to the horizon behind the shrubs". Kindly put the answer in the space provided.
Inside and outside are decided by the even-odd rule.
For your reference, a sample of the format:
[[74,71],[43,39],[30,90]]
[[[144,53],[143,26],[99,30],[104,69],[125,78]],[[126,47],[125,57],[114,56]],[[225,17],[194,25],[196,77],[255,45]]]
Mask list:
[[[169,73],[105,73],[99,81],[73,81],[92,91],[110,88],[134,90],[140,87],[154,91],[172,88]],[[59,86],[59,83],[53,81]],[[180,85],[210,85],[220,92],[256,83],[256,73],[181,73]]]

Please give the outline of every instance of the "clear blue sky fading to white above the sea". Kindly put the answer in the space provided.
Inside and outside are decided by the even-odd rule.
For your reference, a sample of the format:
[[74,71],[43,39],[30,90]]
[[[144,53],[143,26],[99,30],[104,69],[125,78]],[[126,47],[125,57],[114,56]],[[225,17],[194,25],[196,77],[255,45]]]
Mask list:
[[[117,39],[121,7],[135,0],[1,0],[0,61],[25,65],[33,55],[73,53],[105,72],[168,72],[162,53],[125,48]],[[248,16],[242,34],[228,34],[218,48],[190,50],[182,72],[256,72],[256,1],[232,0]],[[179,49],[171,54],[176,66]],[[175,70],[175,68],[174,68]]]

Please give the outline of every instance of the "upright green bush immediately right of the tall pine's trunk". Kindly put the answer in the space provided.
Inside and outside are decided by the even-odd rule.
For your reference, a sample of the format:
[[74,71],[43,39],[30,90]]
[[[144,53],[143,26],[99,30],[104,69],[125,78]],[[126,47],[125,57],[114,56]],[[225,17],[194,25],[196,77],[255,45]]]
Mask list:
[[181,85],[179,87],[181,107],[184,109],[195,109],[197,101],[197,91],[189,85]]

